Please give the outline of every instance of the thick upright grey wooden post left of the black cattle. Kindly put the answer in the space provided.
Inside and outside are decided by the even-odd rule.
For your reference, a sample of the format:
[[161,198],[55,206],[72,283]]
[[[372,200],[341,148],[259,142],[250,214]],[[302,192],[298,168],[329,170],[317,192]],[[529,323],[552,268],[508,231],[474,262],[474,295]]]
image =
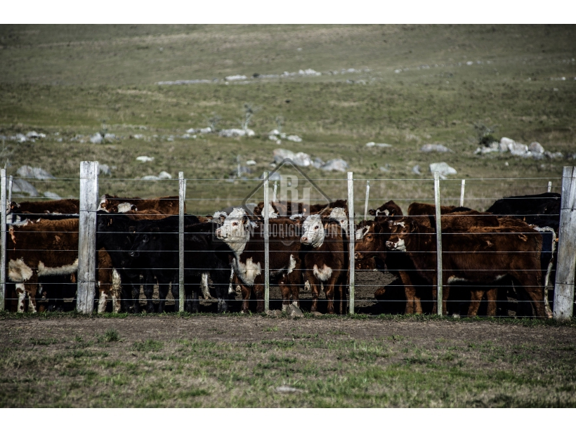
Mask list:
[[96,210],[98,162],[80,162],[80,219],[78,226],[78,289],[76,310],[92,313],[96,294]]

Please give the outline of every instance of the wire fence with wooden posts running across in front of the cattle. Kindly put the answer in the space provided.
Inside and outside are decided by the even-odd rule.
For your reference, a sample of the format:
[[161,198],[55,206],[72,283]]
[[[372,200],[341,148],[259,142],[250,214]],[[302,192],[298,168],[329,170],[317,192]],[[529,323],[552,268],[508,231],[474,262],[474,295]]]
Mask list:
[[[0,307],[572,316],[572,167],[562,178],[360,179],[287,164],[150,182],[82,164],[80,178],[2,171]],[[22,181],[77,198],[30,197]]]

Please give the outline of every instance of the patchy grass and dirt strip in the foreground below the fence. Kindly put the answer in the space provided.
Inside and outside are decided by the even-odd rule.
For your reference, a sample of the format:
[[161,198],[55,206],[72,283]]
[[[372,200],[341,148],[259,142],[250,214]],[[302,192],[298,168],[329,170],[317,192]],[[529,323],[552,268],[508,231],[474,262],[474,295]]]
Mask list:
[[576,407],[574,322],[1,315],[1,407]]

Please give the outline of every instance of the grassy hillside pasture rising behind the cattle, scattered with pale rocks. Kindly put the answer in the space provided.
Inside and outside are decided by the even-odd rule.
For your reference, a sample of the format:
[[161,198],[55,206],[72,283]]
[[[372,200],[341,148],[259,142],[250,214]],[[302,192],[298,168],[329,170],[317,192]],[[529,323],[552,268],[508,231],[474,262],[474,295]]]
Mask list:
[[[431,178],[431,162],[447,162],[457,178],[558,178],[562,166],[575,163],[575,41],[573,25],[2,25],[0,135],[34,130],[47,136],[34,143],[6,140],[1,156],[8,174],[27,164],[62,178],[77,178],[81,160],[98,160],[112,167],[102,193],[176,192],[174,182],[138,180],[160,171],[221,179],[195,191],[206,199],[189,209],[200,214],[244,197],[279,147],[324,161],[341,157],[355,178]],[[262,78],[308,69],[321,75]],[[244,81],[224,80],[242,74]],[[210,82],[156,84],[178,79]],[[249,124],[256,136],[181,138],[211,119],[220,119],[219,129],[240,127],[245,104],[256,109]],[[269,140],[277,117],[282,131],[303,141]],[[497,139],[538,141],[564,157],[474,155],[475,125],[493,129]],[[90,143],[99,131],[116,139]],[[369,141],[392,147],[367,148]],[[420,152],[426,143],[453,152]],[[140,155],[155,160],[137,162]],[[249,159],[256,161],[249,180],[226,181],[238,160]],[[416,164],[420,177],[412,173]],[[346,177],[306,170],[311,178]],[[343,181],[325,183],[333,197],[345,195]],[[544,192],[546,184],[485,183],[466,197]],[[74,181],[34,185],[78,195]],[[372,197],[382,202],[433,196],[428,186],[421,191],[421,182],[379,185]],[[554,181],[553,190],[559,185]]]

